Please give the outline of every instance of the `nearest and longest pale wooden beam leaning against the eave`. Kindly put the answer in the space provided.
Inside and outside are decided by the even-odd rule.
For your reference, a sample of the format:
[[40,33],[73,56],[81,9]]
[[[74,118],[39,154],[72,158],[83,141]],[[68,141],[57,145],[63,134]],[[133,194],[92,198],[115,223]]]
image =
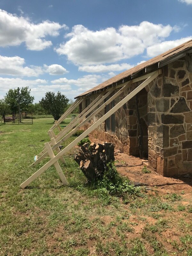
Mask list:
[[137,88],[135,88],[132,92],[130,92],[123,100],[118,102],[113,108],[111,108],[104,116],[102,116],[97,122],[92,124],[85,132],[83,132],[79,137],[77,137],[74,141],[72,141],[66,148],[61,150],[56,156],[54,156],[49,162],[47,162],[44,166],[42,166],[38,171],[36,171],[31,177],[29,177],[26,181],[24,181],[20,187],[25,188],[30,184],[33,180],[35,180],[39,175],[41,175],[45,170],[47,170],[52,164],[57,162],[57,160],[66,154],[71,148],[77,145],[82,139],[84,139],[90,132],[92,132],[95,128],[97,128],[100,124],[102,124],[109,116],[114,114],[119,108],[121,108],[128,100],[134,97],[138,92],[140,92],[146,85],[148,85],[151,81],[153,81],[159,75],[159,70],[153,72],[153,75],[149,76],[143,83],[141,83]]

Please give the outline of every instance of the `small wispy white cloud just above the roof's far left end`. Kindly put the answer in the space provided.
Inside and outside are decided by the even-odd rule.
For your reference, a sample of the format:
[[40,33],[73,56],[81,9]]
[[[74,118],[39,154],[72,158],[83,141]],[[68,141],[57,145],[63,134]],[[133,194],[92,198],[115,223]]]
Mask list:
[[[83,76],[78,79],[67,79],[66,77],[59,78],[56,80],[52,80],[52,84],[73,84],[79,87],[84,87],[84,91],[86,91],[86,88],[92,88],[99,84],[101,76],[99,75],[87,75]],[[88,90],[88,89],[87,89]]]

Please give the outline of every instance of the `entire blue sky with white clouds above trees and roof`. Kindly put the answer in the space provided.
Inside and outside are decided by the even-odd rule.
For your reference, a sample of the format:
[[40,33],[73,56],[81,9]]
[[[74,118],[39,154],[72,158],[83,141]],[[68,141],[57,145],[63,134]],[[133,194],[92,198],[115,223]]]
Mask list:
[[69,99],[192,39],[192,0],[0,0],[0,99]]

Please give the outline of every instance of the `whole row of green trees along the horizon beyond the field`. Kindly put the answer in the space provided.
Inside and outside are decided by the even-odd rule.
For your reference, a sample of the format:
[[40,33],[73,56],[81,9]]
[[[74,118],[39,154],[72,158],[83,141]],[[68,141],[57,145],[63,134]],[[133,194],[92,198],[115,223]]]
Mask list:
[[[72,100],[69,100],[61,92],[46,92],[39,103],[33,103],[34,97],[30,95],[31,89],[28,87],[22,87],[19,90],[10,89],[4,99],[0,100],[0,116],[6,114],[18,114],[19,103],[21,112],[31,113],[33,115],[52,115],[55,120],[58,120],[60,116],[73,104]],[[73,113],[78,113],[79,109],[76,108]]]

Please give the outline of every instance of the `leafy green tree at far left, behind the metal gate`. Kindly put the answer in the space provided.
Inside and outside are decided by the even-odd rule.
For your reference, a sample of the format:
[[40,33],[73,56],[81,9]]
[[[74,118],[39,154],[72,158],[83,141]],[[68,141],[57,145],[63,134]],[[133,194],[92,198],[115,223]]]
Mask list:
[[[4,97],[5,102],[9,105],[13,114],[19,111],[19,100],[20,109],[22,111],[27,111],[28,105],[33,103],[34,97],[30,95],[31,89],[28,87],[19,88],[19,93],[17,89],[10,89],[6,96]],[[19,94],[19,95],[18,95]]]

